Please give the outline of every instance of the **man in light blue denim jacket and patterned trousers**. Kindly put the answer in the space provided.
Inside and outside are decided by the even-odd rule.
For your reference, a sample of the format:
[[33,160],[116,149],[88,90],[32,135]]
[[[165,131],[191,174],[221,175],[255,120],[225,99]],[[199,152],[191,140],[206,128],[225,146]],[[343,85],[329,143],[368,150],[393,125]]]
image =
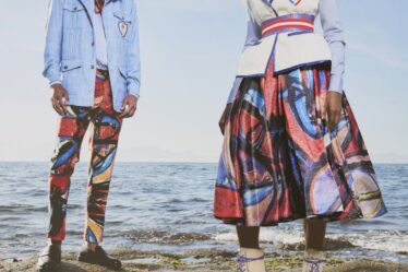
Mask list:
[[45,70],[51,103],[61,116],[49,176],[48,245],[38,271],[55,271],[65,237],[70,177],[93,125],[84,247],[79,260],[120,269],[99,246],[122,119],[136,111],[140,54],[134,0],[51,0]]

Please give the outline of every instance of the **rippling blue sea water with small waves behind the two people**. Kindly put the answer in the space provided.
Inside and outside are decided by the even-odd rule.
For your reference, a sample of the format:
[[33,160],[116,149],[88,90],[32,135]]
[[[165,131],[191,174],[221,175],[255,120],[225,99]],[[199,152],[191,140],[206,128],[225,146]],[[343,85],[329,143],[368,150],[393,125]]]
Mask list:
[[[408,165],[376,165],[388,213],[380,218],[329,223],[331,255],[408,263]],[[212,216],[216,164],[117,163],[108,199],[108,249],[236,250],[233,226]],[[46,240],[47,163],[0,163],[0,259],[24,259]],[[72,178],[64,249],[82,244],[87,165]],[[297,253],[302,222],[263,228],[268,251]]]

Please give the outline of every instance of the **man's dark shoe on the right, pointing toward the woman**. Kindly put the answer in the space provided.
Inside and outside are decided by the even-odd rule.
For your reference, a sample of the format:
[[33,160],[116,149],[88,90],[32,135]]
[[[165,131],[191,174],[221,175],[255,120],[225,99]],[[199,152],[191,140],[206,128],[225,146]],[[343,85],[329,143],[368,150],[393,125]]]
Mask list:
[[100,246],[96,246],[95,251],[89,250],[84,246],[77,256],[77,260],[81,262],[98,264],[111,270],[120,270],[122,268],[120,260],[109,257]]

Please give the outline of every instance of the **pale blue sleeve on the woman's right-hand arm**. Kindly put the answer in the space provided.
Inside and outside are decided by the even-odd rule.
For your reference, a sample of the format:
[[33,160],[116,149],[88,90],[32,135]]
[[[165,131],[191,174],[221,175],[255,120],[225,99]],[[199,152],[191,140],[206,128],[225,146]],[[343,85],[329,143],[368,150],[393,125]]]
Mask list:
[[324,38],[332,50],[329,91],[343,93],[346,43],[336,0],[321,0],[319,4]]

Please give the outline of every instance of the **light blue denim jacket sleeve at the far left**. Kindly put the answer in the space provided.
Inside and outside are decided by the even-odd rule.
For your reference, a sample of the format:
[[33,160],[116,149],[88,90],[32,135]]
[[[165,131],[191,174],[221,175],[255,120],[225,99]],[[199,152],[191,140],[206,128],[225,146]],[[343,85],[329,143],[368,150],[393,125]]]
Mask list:
[[43,75],[48,80],[50,85],[61,81],[62,13],[63,0],[50,0],[43,71]]

